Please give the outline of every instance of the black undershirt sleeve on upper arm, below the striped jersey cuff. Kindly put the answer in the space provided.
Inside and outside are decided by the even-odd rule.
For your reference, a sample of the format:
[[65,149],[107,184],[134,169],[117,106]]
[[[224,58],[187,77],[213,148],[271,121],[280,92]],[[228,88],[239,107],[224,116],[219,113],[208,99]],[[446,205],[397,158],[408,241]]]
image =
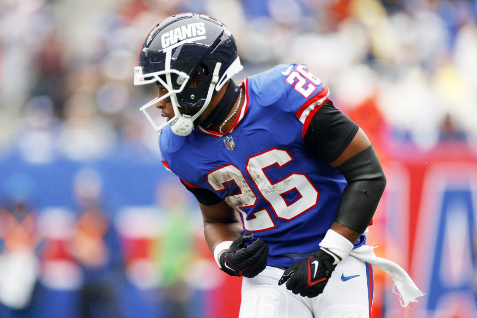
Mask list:
[[310,122],[305,133],[305,147],[319,159],[330,163],[349,145],[358,128],[328,100]]

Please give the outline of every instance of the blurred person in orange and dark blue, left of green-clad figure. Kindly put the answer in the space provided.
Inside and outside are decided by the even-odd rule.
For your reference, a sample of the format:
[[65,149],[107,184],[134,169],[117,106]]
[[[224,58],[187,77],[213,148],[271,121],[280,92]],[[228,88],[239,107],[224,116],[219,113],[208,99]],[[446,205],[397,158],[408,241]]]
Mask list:
[[70,248],[84,275],[80,290],[81,317],[120,318],[119,290],[123,282],[118,237],[103,206],[103,186],[93,169],[79,170],[74,179],[78,220]]

